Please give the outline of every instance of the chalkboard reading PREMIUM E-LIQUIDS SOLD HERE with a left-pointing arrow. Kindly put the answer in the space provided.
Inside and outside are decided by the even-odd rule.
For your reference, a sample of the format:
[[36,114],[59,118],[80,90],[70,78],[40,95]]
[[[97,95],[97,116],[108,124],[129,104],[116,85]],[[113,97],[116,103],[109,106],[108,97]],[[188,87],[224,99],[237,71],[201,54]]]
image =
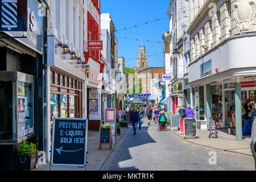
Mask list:
[[85,167],[87,131],[87,119],[55,118],[51,165]]

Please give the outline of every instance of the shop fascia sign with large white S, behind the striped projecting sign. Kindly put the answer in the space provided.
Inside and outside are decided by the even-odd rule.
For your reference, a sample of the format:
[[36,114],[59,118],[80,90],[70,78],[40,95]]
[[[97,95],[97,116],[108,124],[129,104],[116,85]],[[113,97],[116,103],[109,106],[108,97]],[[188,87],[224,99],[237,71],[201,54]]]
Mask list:
[[[11,0],[13,1],[13,0]],[[2,1],[3,2],[3,1]],[[39,51],[40,53],[43,52],[43,15],[42,13],[42,6],[36,1],[36,0],[17,0],[18,3],[24,2],[24,4],[27,3],[26,7],[26,24],[27,28],[26,30],[20,30],[14,32],[13,29],[11,29],[10,33],[12,36],[26,36],[27,38],[19,39],[23,43],[27,44],[31,48]],[[25,5],[22,5],[25,6]],[[7,31],[7,30],[6,30]]]

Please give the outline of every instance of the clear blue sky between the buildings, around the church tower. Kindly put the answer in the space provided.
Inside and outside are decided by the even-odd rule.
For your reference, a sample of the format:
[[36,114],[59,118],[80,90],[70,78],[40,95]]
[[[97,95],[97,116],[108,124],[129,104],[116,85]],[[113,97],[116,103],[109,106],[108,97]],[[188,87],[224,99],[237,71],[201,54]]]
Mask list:
[[[115,24],[115,29],[119,30],[132,27],[137,24],[150,22],[155,19],[167,17],[167,10],[170,0],[101,0],[101,13],[110,13]],[[118,56],[125,57],[126,66],[135,66],[138,46],[142,40],[152,42],[163,42],[164,31],[169,31],[169,19],[162,19],[137,28],[130,28],[115,32],[118,40]],[[125,40],[138,39],[136,40]],[[143,42],[146,46],[147,55],[155,55],[163,52],[163,43]],[[148,67],[164,67],[164,55],[148,57]]]

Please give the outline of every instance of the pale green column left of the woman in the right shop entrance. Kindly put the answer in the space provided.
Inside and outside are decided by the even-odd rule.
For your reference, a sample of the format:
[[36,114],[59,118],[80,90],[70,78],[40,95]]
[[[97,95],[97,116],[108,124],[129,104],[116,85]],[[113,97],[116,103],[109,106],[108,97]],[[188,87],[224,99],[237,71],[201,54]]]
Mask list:
[[235,105],[236,105],[236,138],[242,140],[242,103],[241,103],[241,84],[235,84]]

